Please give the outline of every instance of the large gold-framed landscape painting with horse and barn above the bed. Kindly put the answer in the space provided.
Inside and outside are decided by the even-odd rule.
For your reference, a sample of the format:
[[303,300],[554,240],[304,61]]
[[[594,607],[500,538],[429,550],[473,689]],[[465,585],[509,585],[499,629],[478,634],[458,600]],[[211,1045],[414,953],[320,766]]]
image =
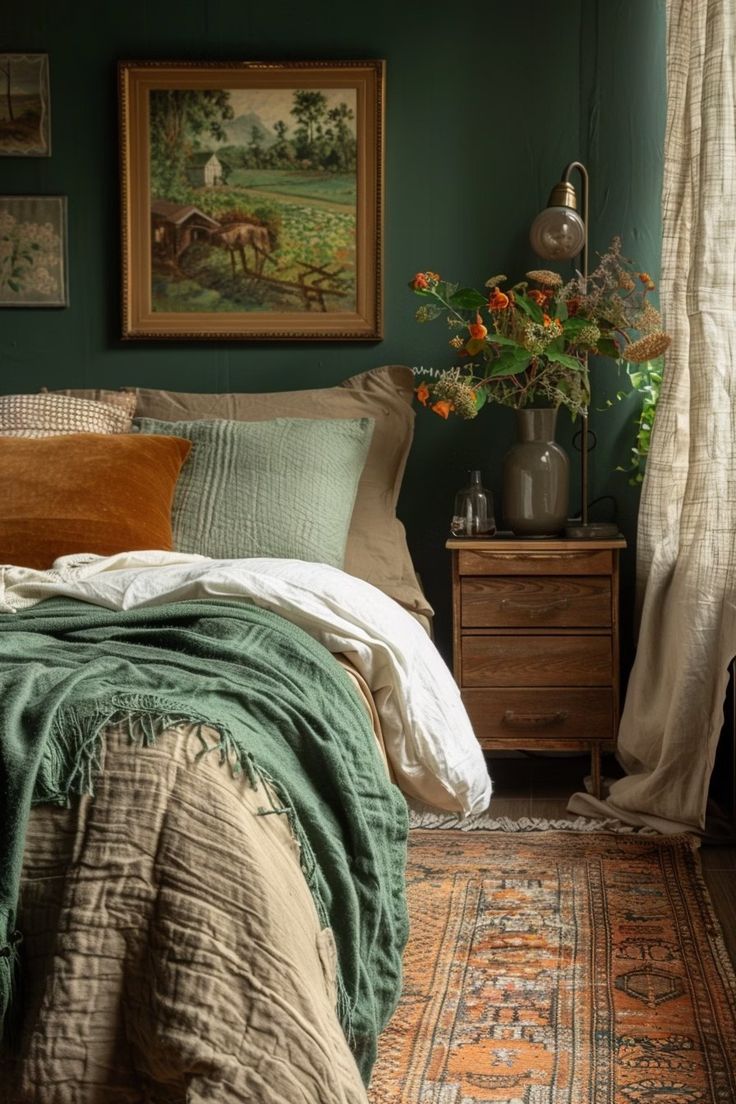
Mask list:
[[382,337],[384,63],[121,62],[122,337]]

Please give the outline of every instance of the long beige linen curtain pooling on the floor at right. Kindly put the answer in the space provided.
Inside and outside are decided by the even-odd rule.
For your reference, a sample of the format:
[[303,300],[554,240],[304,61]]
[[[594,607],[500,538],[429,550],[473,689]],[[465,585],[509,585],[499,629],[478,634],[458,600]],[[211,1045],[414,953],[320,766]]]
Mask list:
[[668,0],[666,353],[639,513],[627,777],[575,813],[702,830],[736,655],[736,0]]

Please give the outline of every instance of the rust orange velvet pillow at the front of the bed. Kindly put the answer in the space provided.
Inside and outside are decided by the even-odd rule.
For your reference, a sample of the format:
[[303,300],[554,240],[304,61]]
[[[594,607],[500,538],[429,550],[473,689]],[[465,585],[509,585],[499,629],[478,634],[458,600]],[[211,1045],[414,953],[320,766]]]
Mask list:
[[76,552],[170,550],[191,447],[141,434],[0,437],[0,563],[44,570]]

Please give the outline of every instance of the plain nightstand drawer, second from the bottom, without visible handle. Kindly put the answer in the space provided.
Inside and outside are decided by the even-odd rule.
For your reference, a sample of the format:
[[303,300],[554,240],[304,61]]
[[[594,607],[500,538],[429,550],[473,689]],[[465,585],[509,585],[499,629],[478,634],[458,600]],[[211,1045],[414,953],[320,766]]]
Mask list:
[[611,684],[610,636],[463,636],[466,687],[596,687]]

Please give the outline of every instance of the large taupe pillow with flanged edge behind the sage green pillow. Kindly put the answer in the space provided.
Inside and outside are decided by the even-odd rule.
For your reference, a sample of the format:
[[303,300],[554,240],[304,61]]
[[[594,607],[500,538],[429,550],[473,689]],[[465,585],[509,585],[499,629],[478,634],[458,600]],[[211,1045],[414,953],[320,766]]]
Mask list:
[[406,609],[431,616],[414,571],[396,501],[414,433],[414,376],[404,365],[375,368],[335,388],[266,394],[190,394],[137,389],[139,417],[166,422],[277,417],[353,418],[375,422],[348,532],[344,570],[395,598]]

